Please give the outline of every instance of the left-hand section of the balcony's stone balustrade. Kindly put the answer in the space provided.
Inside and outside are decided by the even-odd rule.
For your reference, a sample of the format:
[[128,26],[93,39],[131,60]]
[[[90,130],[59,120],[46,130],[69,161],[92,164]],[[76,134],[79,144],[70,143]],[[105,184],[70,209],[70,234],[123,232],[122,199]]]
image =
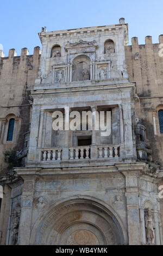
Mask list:
[[60,161],[62,149],[53,148],[42,150],[42,161]]

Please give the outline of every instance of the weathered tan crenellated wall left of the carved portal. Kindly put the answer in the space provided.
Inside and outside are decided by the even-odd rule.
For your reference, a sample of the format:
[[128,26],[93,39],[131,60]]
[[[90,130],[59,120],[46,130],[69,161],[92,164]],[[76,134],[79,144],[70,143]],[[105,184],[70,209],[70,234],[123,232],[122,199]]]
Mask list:
[[[0,175],[5,173],[3,151],[21,150],[24,145],[24,133],[29,131],[30,97],[28,90],[33,88],[40,65],[40,47],[34,48],[29,55],[27,48],[22,48],[21,56],[16,56],[15,49],[9,50],[9,56],[0,52]],[[7,142],[8,120],[16,118],[14,139]]]

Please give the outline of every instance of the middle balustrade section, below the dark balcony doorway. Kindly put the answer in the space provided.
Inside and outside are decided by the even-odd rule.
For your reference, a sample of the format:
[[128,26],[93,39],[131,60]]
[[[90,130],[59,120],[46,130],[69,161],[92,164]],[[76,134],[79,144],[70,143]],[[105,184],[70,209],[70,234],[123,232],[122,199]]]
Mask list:
[[70,148],[69,150],[70,150],[70,160],[90,159],[90,147],[89,146],[73,147],[73,148]]

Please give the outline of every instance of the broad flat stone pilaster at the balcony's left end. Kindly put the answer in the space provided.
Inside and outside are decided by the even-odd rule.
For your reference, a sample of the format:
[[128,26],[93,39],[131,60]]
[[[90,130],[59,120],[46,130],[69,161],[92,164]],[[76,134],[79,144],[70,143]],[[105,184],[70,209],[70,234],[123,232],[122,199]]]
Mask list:
[[37,139],[39,133],[40,109],[35,108],[32,111],[32,123],[30,127],[29,153],[28,161],[35,161]]

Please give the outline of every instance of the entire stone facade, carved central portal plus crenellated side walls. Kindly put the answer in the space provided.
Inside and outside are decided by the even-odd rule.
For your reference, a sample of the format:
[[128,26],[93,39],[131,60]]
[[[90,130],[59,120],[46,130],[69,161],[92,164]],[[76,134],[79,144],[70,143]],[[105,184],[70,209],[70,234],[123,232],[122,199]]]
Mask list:
[[[1,52],[0,147],[22,160],[11,170],[1,154],[1,244],[162,245],[159,44],[127,46],[123,18],[39,36],[41,55]],[[90,111],[91,129],[54,131],[54,111],[65,127],[73,111]],[[108,136],[95,129],[101,111]]]

